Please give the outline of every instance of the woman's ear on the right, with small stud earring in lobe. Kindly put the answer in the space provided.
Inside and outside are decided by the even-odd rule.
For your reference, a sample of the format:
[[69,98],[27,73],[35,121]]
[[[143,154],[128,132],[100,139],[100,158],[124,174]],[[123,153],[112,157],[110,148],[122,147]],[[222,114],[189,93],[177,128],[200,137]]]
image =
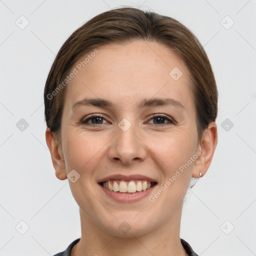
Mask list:
[[200,151],[200,155],[194,161],[194,168],[192,177],[200,177],[206,173],[210,166],[215,148],[217,145],[217,125],[215,122],[210,122],[208,127],[204,129],[200,143],[198,144],[197,150]]

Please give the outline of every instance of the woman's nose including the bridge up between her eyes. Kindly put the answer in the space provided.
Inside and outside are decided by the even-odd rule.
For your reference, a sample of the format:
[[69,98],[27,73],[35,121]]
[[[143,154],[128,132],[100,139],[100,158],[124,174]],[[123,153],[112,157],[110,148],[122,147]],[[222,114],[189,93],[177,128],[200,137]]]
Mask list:
[[[116,127],[116,136],[109,149],[111,160],[121,160],[124,164],[131,163],[132,160],[143,160],[146,156],[146,146],[138,138],[139,132],[135,119],[131,121],[123,118]],[[136,135],[135,135],[136,134]]]

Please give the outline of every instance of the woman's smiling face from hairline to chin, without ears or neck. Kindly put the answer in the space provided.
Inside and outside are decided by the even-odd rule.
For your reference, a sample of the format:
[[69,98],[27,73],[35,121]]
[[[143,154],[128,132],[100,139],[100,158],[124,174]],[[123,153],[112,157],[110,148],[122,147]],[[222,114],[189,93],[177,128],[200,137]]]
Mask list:
[[181,212],[198,149],[189,73],[157,42],[97,49],[66,87],[64,171],[80,175],[69,184],[87,222],[140,235]]

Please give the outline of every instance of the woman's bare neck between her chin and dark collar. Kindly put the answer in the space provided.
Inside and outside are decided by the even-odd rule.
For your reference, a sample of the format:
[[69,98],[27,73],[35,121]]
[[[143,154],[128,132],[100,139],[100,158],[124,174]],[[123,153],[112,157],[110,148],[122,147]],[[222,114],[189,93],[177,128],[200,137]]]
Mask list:
[[71,256],[187,256],[179,237],[181,210],[182,205],[168,223],[143,235],[119,237],[99,228],[80,209],[81,238],[71,250]]

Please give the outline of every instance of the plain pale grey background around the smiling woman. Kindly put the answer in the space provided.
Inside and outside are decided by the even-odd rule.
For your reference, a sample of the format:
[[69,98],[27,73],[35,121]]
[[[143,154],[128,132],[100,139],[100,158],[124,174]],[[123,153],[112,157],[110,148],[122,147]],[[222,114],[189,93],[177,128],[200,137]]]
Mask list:
[[45,142],[44,83],[67,37],[121,5],[190,28],[217,81],[218,144],[188,190],[180,237],[203,256],[256,255],[256,0],[0,0],[0,255],[53,255],[80,237],[78,206]]

